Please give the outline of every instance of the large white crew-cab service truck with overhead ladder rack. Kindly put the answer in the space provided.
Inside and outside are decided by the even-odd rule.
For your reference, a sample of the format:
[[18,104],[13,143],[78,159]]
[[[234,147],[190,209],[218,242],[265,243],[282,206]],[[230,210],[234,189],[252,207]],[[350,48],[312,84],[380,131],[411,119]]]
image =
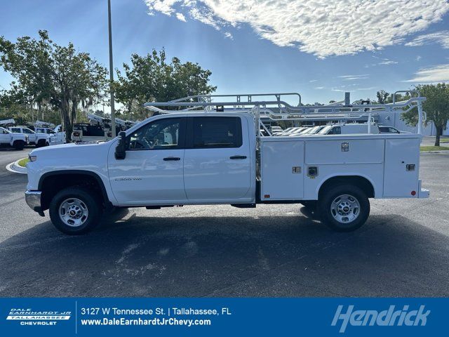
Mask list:
[[[162,113],[106,143],[33,150],[27,204],[41,216],[49,209],[55,227],[67,234],[91,230],[112,207],[192,204],[253,208],[299,203],[316,210],[334,230],[351,231],[366,222],[369,198],[429,196],[418,178],[420,134],[264,137],[256,134],[262,110],[273,119],[300,119],[320,107],[292,107],[279,99],[243,103],[239,98],[229,110],[223,108],[226,102],[213,110],[213,96],[204,97],[194,96],[198,103],[193,98],[146,103]],[[417,107],[422,122],[424,99],[345,108],[370,114]],[[269,104],[281,109],[269,110]]]

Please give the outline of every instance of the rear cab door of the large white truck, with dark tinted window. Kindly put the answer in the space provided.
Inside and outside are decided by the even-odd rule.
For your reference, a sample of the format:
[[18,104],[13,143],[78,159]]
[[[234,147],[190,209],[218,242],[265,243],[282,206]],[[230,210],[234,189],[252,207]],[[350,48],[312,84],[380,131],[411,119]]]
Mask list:
[[237,200],[250,189],[250,144],[239,116],[187,118],[184,185],[189,200]]

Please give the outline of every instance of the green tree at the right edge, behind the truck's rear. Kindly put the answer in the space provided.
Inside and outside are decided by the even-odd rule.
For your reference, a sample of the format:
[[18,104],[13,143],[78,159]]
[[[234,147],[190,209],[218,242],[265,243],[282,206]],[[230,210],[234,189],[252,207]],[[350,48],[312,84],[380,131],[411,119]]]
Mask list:
[[[435,146],[440,146],[440,136],[446,128],[449,119],[449,85],[445,83],[438,84],[420,84],[415,86],[420,94],[427,98],[422,103],[422,109],[427,114],[427,120],[434,122],[436,128]],[[401,119],[407,124],[415,126],[418,122],[416,110],[405,112],[401,115]]]

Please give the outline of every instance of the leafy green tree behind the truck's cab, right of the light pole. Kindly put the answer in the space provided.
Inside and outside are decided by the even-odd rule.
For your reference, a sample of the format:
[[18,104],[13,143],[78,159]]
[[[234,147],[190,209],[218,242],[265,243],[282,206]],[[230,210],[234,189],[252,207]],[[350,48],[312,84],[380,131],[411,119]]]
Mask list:
[[123,63],[124,74],[117,72],[114,83],[116,100],[125,106],[122,112],[126,116],[137,111],[143,118],[142,104],[145,102],[174,100],[189,95],[208,94],[215,91],[216,86],[210,86],[212,72],[203,70],[198,63],[182,63],[179,58],[166,62],[166,52],[153,50],[146,56],[131,55],[131,64]]

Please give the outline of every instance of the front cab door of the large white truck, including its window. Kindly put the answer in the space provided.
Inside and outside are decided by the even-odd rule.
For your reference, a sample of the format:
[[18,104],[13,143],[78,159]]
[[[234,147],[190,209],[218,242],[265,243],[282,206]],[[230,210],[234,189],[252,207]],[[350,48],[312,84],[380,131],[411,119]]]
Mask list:
[[171,204],[184,190],[185,118],[163,117],[127,137],[126,158],[109,153],[109,180],[120,204]]

